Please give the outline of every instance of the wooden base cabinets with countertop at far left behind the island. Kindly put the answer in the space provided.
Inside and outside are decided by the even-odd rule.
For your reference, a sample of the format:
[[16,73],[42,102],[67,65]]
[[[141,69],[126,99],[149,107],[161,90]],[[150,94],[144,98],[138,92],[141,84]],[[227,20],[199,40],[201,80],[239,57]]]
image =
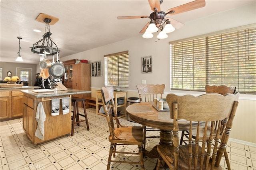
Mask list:
[[20,86],[20,84],[8,85],[6,83],[0,83],[0,85],[0,121],[8,121],[22,117],[23,93],[21,90],[41,88],[39,86]]

